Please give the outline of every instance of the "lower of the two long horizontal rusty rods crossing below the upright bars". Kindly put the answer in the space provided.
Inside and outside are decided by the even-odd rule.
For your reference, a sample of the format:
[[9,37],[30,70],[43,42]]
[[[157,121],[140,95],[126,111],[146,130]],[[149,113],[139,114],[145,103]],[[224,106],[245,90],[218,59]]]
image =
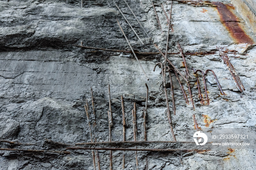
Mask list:
[[[1,148],[0,148],[1,150]],[[202,151],[211,151],[211,150],[199,150],[199,149],[151,149],[151,148],[91,148],[91,147],[68,147],[66,150],[110,150],[110,151],[151,151],[151,152],[202,152]]]

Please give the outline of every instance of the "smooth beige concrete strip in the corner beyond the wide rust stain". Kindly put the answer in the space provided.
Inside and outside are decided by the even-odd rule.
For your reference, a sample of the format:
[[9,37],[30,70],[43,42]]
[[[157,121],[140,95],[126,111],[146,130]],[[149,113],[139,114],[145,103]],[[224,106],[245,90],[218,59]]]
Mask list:
[[236,7],[237,11],[245,20],[246,24],[252,29],[256,35],[256,4],[252,0],[230,0]]

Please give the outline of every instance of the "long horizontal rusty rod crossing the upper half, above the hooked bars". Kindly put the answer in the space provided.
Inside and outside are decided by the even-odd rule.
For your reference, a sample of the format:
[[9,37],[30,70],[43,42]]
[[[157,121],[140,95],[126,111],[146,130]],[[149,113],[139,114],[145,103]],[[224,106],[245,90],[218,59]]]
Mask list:
[[[117,52],[117,53],[130,53],[132,54],[132,51],[126,51],[126,50],[112,50],[112,49],[102,49],[102,48],[97,48],[97,47],[87,47],[87,46],[79,46],[79,45],[73,45],[74,47],[79,47],[82,49],[93,49],[93,50],[102,50],[102,51],[111,51],[111,52]],[[139,55],[157,55],[161,54],[159,52],[141,52],[141,51],[134,51],[135,54]],[[168,55],[176,55],[180,53],[167,53]],[[215,54],[214,53],[184,53],[185,55],[210,55],[210,54]]]

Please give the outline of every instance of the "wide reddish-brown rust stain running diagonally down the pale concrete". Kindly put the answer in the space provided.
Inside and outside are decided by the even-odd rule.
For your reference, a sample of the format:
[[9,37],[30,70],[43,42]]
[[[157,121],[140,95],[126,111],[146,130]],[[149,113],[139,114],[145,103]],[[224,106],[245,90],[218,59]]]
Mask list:
[[225,5],[221,2],[212,2],[212,4],[217,6],[218,13],[221,18],[221,22],[227,30],[230,32],[231,37],[237,43],[248,43],[254,44],[252,38],[250,38],[242,29],[237,16],[234,15],[233,12],[230,11],[231,6],[229,4]]

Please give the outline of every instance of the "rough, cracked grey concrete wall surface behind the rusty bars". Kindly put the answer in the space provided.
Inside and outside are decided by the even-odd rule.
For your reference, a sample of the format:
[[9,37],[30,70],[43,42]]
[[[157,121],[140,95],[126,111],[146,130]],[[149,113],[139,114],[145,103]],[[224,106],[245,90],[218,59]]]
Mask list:
[[[149,81],[146,81],[138,63],[131,54],[84,50],[74,45],[107,49],[129,50],[118,25],[120,20],[125,34],[135,50],[165,51],[167,21],[162,11],[170,9],[170,1],[154,1],[163,33],[158,28],[155,13],[149,0],[129,1],[138,19],[151,38],[147,38],[124,1],[116,1],[144,42],[140,44],[128,24],[121,17],[112,1],[85,1],[80,7],[76,0],[10,0],[0,1],[0,139],[34,146],[13,146],[0,143],[1,147],[38,150],[56,150],[44,139],[75,144],[90,142],[89,129],[83,105],[88,99],[91,108],[90,87],[94,90],[98,141],[108,141],[108,91],[110,84],[113,128],[112,140],[121,141],[122,112],[120,96],[124,95],[127,121],[126,140],[133,140],[131,109],[137,105],[138,138],[143,140],[142,111],[146,87],[149,86],[148,138],[149,141],[170,141],[172,135],[166,116],[162,75],[154,65],[163,61],[161,55],[138,55]],[[229,4],[227,0],[221,2]],[[255,39],[235,9],[234,14],[246,34]],[[207,74],[210,105],[200,104],[195,79],[191,79],[195,110],[187,105],[177,80],[174,82],[176,115],[172,113],[177,141],[184,141],[185,128],[193,128],[195,114],[200,127],[205,127],[204,117],[213,121],[210,128],[255,127],[256,84],[255,54],[253,45],[234,43],[225,26],[220,22],[216,7],[173,2],[173,30],[170,32],[169,52],[178,52],[180,42],[184,52],[216,52],[211,55],[187,55],[189,68],[212,69],[227,94],[220,95],[211,74]],[[230,62],[240,74],[245,91],[240,93],[223,63],[218,47],[227,50]],[[184,70],[180,55],[170,55],[174,65]],[[191,76],[193,76],[191,72]],[[169,79],[166,80],[169,82]],[[181,80],[186,92],[187,84]],[[202,83],[202,79],[200,79]],[[168,84],[167,84],[168,86]],[[204,94],[203,84],[200,84]],[[170,85],[169,85],[170,87]],[[188,94],[188,92],[187,92]],[[168,95],[171,104],[170,88]],[[172,111],[172,108],[170,108]],[[92,110],[90,110],[92,113]],[[161,147],[161,146],[159,146]],[[139,169],[254,169],[255,150],[228,150],[203,153],[138,152]],[[122,151],[113,152],[113,169],[121,169]],[[181,156],[181,165],[178,155]],[[109,169],[109,152],[99,151],[101,169]],[[134,152],[126,152],[126,169],[136,169]],[[0,169],[86,169],[92,170],[91,151],[72,151],[63,154],[36,154],[19,151],[0,151]]]

